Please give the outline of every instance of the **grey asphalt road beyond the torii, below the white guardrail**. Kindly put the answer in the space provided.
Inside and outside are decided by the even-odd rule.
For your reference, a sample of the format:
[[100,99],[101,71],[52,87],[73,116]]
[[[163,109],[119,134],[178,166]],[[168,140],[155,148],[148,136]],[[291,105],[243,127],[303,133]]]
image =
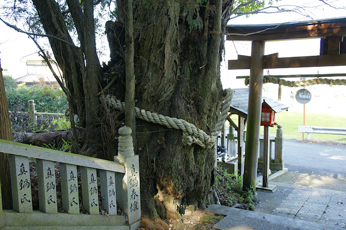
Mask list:
[[284,139],[283,161],[289,171],[328,174],[346,179],[346,145],[328,145]]

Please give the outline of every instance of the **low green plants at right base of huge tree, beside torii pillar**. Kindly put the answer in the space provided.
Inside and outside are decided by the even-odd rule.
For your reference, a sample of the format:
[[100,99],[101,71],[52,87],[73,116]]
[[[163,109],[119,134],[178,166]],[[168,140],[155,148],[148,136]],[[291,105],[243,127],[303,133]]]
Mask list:
[[216,169],[214,188],[219,196],[220,203],[226,206],[233,206],[236,203],[242,204],[244,209],[253,210],[252,191],[243,190],[243,177],[228,173],[227,168],[218,165]]

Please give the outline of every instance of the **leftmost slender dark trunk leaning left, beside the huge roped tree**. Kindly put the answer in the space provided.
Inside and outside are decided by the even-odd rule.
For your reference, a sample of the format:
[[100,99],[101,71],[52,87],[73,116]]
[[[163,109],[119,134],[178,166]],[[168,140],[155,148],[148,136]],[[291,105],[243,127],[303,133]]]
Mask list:
[[[33,0],[33,3],[46,33],[73,44],[58,3],[55,0]],[[71,7],[73,10],[80,7],[79,2],[75,1],[74,6]],[[77,9],[75,10],[77,11]],[[84,18],[82,17],[76,20],[84,21]],[[77,46],[71,46],[54,37],[49,37],[48,39],[71,94],[69,106],[72,107],[74,114],[78,115],[79,125],[85,127],[86,111],[83,84],[83,79],[85,79],[85,65],[82,50]],[[74,114],[70,114],[71,119],[73,119]]]

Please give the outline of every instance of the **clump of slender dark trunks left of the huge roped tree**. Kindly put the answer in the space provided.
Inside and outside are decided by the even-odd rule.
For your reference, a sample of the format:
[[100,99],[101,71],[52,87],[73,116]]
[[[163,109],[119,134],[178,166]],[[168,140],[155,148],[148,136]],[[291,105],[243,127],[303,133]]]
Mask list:
[[[84,11],[78,0],[67,0],[80,47],[73,44],[64,16],[55,0],[33,0],[33,3],[46,33],[63,39],[49,37],[49,42],[70,94],[68,99],[70,111],[72,110],[71,124],[76,118],[78,126],[86,128],[80,141],[82,146],[79,153],[104,153],[103,143],[94,142],[94,136],[99,137],[101,132],[97,114],[100,101],[97,94],[100,89],[99,79],[103,73],[96,53],[93,0],[83,1]],[[75,117],[75,114],[78,117]],[[102,153],[100,155],[104,155]]]

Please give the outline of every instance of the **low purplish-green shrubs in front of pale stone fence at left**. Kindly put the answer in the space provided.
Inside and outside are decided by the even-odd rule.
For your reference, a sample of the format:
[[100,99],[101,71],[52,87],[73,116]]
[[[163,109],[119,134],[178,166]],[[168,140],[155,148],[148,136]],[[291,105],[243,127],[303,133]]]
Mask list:
[[22,107],[17,107],[10,112],[12,129],[17,132],[35,132],[35,131],[53,131],[61,129],[69,129],[70,122],[61,117],[56,119],[50,116],[38,117],[36,124],[31,122],[32,116],[28,112],[23,112]]

